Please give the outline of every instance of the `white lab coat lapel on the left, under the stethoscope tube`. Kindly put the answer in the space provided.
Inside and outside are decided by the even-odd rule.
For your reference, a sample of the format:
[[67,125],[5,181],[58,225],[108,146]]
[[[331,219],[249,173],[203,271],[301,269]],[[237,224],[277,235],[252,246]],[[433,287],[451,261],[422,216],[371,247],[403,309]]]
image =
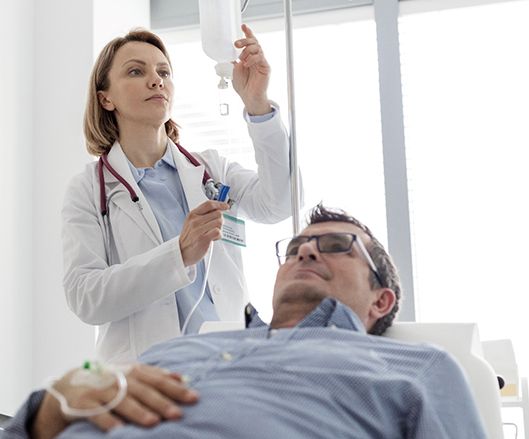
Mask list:
[[[108,154],[108,161],[110,165],[117,171],[117,173],[121,175],[128,184],[130,184],[132,189],[134,189],[139,197],[139,206],[137,206],[138,203],[133,203],[131,201],[129,192],[121,183],[117,185],[115,184],[118,182],[117,178],[115,178],[107,169],[105,169],[105,181],[108,183],[114,183],[112,185],[108,184],[108,186],[114,187],[114,189],[110,189],[110,192],[107,194],[108,199],[112,200],[112,202],[114,202],[121,210],[127,213],[138,225],[138,227],[154,241],[155,244],[161,244],[163,242],[163,238],[160,231],[160,226],[156,221],[156,217],[154,216],[147,199],[141,192],[136,180],[132,176],[127,157],[125,156],[125,153],[118,142],[115,142],[112,146],[112,149]],[[114,195],[117,191],[125,192],[126,196],[115,196],[112,198],[112,195]]]

